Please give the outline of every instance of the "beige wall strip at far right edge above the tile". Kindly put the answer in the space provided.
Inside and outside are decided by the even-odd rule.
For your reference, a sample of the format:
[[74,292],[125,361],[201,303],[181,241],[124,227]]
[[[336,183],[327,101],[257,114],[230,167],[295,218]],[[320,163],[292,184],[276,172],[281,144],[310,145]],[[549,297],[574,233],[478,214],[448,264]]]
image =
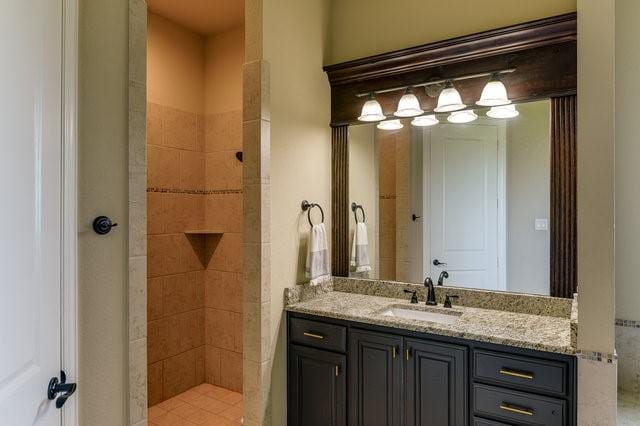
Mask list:
[[640,321],[640,2],[616,2],[616,317]]

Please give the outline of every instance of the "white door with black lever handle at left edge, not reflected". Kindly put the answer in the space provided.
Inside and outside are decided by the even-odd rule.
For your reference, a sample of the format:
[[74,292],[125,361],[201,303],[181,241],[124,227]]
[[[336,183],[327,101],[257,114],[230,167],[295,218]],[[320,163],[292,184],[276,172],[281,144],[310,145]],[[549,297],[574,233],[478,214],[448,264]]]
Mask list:
[[0,13],[0,424],[60,425],[62,0]]

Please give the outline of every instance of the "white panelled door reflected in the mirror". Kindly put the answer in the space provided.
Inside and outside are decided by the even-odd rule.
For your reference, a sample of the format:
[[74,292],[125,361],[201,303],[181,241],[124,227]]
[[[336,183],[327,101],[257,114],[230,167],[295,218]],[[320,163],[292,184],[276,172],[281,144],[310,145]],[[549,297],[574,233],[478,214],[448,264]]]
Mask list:
[[430,163],[432,277],[446,270],[451,285],[497,289],[498,129],[438,125]]

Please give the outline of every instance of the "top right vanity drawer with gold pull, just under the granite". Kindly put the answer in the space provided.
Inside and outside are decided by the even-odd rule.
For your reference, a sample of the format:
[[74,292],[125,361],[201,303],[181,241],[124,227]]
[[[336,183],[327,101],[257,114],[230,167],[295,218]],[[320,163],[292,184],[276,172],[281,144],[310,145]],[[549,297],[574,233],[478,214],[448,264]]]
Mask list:
[[563,362],[476,350],[473,375],[478,380],[491,380],[524,390],[558,395],[567,392],[567,365]]

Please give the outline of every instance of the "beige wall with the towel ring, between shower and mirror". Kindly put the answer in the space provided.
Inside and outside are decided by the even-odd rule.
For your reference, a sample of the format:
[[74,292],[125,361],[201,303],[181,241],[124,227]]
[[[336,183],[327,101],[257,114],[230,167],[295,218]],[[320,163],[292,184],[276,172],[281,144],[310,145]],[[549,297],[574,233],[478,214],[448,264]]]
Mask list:
[[[271,67],[272,424],[286,423],[283,291],[305,280],[309,232],[300,202],[322,205],[331,229],[329,84],[322,71],[328,2],[265,0],[264,59]],[[330,242],[329,242],[330,243]]]

